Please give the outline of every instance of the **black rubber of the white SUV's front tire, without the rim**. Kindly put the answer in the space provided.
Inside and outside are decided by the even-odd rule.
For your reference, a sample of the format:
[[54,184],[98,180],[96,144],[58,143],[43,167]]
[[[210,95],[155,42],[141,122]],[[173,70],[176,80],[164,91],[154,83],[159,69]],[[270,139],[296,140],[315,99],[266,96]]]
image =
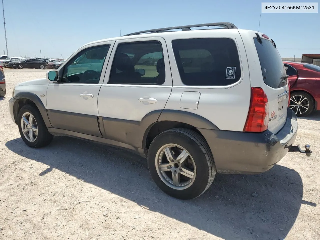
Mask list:
[[[34,116],[36,123],[37,123],[38,136],[34,142],[28,141],[22,133],[21,118],[25,112],[31,113]],[[29,147],[39,148],[39,147],[46,145],[45,143],[50,142],[52,140],[52,135],[48,132],[48,129],[43,121],[43,118],[42,118],[39,110],[37,108],[35,108],[34,106],[25,105],[20,109],[19,115],[18,115],[18,127],[19,127],[19,132],[20,132],[20,136],[21,136],[22,140]]]

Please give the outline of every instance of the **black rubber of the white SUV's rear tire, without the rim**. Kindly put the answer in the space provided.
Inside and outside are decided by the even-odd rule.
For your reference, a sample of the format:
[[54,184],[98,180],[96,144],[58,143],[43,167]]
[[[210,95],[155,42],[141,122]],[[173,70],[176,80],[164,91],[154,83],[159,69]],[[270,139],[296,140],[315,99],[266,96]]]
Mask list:
[[[161,180],[156,170],[156,153],[159,150],[159,148],[169,143],[177,144],[185,148],[195,161],[196,179],[194,180],[193,184],[186,189],[177,190],[170,188]],[[148,150],[148,167],[151,177],[153,178],[157,186],[166,194],[175,198],[193,199],[197,196],[200,196],[204,192],[208,184],[209,166],[204,152],[201,150],[199,145],[194,140],[180,132],[164,132],[158,135],[152,141]]]

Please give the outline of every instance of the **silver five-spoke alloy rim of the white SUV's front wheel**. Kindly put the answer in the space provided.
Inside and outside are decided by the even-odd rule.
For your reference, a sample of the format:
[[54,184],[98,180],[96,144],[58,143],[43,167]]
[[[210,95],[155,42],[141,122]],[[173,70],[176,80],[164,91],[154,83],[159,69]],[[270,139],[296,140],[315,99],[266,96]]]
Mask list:
[[34,116],[29,113],[25,112],[21,117],[21,130],[24,137],[29,142],[36,141],[38,137],[38,125]]

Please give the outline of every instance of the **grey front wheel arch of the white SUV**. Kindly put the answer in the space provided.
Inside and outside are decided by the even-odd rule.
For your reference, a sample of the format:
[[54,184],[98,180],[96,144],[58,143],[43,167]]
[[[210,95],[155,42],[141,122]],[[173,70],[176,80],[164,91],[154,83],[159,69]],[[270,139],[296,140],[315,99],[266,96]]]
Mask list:
[[47,109],[44,107],[43,102],[36,94],[32,92],[19,92],[14,96],[14,99],[16,99],[16,101],[13,105],[13,116],[16,124],[18,124],[18,114],[20,109],[23,106],[30,104],[35,106],[39,110],[45,125],[47,127],[52,127],[48,117]]

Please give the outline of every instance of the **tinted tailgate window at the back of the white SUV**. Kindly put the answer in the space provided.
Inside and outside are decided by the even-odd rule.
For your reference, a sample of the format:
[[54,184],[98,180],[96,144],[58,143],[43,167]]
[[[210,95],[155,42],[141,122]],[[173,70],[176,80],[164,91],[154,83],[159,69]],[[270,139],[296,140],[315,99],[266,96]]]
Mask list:
[[286,85],[283,81],[284,65],[278,50],[273,46],[272,42],[267,39],[261,39],[262,44],[259,43],[258,38],[254,38],[254,45],[256,46],[263,81],[272,88],[279,88]]

